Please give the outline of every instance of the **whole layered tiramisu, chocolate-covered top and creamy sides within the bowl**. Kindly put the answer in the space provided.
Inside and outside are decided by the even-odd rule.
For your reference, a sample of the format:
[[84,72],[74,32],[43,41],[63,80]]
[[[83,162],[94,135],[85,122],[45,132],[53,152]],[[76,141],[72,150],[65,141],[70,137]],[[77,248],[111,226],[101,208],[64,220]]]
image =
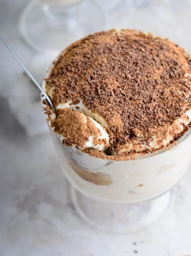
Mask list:
[[[65,151],[63,169],[81,190],[85,184],[99,187],[90,196],[103,197],[97,186],[103,185],[105,199],[145,200],[185,172],[174,170],[180,157],[170,156],[191,122],[191,56],[179,45],[137,30],[97,32],[61,52],[43,86],[58,113],[55,119],[43,99],[58,151]],[[103,175],[101,184],[91,174]]]

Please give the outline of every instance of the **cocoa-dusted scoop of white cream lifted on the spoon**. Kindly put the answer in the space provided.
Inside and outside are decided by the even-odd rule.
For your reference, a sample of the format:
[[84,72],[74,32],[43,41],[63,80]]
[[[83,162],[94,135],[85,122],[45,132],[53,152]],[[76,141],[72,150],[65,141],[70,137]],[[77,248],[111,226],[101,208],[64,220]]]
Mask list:
[[[57,105],[57,111],[61,110],[67,110],[70,109],[71,112],[68,113],[63,113],[62,115],[67,115],[66,118],[71,119],[71,113],[75,113],[75,118],[76,120],[72,120],[70,125],[71,127],[68,127],[68,125],[63,124],[63,132],[57,132],[58,136],[60,137],[61,141],[68,142],[72,146],[77,147],[81,150],[84,150],[85,148],[94,148],[98,151],[103,151],[106,148],[109,147],[109,135],[105,131],[105,128],[102,125],[106,125],[105,120],[101,118],[97,113],[92,113],[88,108],[85,107],[81,99],[78,99],[79,103],[78,104],[72,104],[72,101],[68,101],[63,104]],[[94,119],[93,119],[94,118]],[[52,115],[52,119],[55,122],[55,115]],[[62,116],[63,119],[63,116]],[[97,122],[97,121],[98,122]],[[80,123],[81,122],[81,123]],[[100,124],[100,123],[102,124]],[[88,127],[88,125],[89,127]],[[79,125],[79,127],[77,127]],[[66,134],[67,129],[73,129],[74,126],[77,127],[77,131],[79,131],[79,134],[74,134],[74,136],[79,136],[83,137],[83,145],[79,145],[77,143],[72,143],[71,142],[71,137],[68,137]],[[91,130],[91,127],[93,128],[91,133],[92,135],[87,137],[86,131],[89,129]],[[82,130],[80,130],[83,128]],[[69,133],[68,133],[69,134]],[[71,136],[71,134],[69,134]],[[72,135],[73,136],[73,135]]]

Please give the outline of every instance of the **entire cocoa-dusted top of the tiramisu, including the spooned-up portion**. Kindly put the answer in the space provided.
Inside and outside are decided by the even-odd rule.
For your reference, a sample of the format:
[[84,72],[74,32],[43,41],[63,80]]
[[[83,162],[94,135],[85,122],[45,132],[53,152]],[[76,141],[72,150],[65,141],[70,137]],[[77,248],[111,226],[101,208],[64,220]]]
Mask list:
[[[66,145],[128,159],[169,145],[191,122],[191,56],[168,39],[129,29],[65,49],[46,78],[47,119]],[[46,102],[44,102],[46,104]]]

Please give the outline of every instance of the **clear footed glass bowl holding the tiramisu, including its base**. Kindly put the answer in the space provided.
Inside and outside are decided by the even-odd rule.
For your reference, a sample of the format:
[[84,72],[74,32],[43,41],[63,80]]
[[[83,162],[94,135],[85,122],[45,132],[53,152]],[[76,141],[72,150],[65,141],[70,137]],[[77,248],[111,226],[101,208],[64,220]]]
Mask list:
[[[112,33],[113,31],[116,31],[115,33],[119,35],[121,34],[120,30],[112,30]],[[133,33],[137,34],[137,31],[133,31]],[[148,39],[151,36],[145,32],[144,34]],[[85,40],[78,41],[77,45],[79,46]],[[143,44],[142,47],[144,47]],[[61,52],[54,60],[48,70],[46,79],[43,81],[43,89],[46,90],[53,101],[54,88],[47,85],[49,83],[48,79],[53,77],[51,75],[52,70],[60,63],[60,59],[70,52],[70,49],[71,46]],[[53,73],[55,75],[57,71]],[[187,79],[189,74],[186,74]],[[191,130],[189,129],[189,123],[191,121],[191,111],[187,110],[186,112],[186,124],[180,117],[181,123],[177,126],[178,136],[176,139],[169,139],[170,135],[168,134],[170,143],[165,142],[165,146],[150,150],[147,145],[148,142],[151,143],[151,140],[145,143],[141,138],[139,141],[143,143],[142,146],[146,147],[147,150],[136,152],[134,149],[128,152],[128,155],[123,156],[120,153],[120,157],[117,157],[117,153],[113,149],[108,150],[109,147],[106,150],[105,148],[100,150],[104,152],[104,154],[100,154],[97,148],[92,149],[89,144],[86,145],[89,145],[92,151],[87,151],[85,148],[72,144],[63,134],[59,134],[54,127],[55,114],[49,108],[43,95],[42,104],[60,166],[72,185],[72,200],[80,216],[100,230],[117,233],[136,232],[153,224],[168,207],[171,199],[171,189],[179,182],[190,165]],[[71,99],[67,97],[65,103],[60,105],[59,102],[56,107],[58,114],[63,109],[70,109],[71,112],[77,111],[79,115],[84,115],[87,119],[93,119],[94,123],[100,125],[97,126],[98,130],[103,127],[107,127],[103,128],[104,131],[105,129],[111,129],[111,126],[105,125],[102,116],[95,111],[91,111],[83,104],[82,98],[77,103],[72,103]],[[78,120],[76,120],[77,122]],[[134,140],[134,136],[132,136],[132,141],[136,144],[137,141]],[[91,139],[89,137],[88,141],[90,142]],[[152,146],[157,145],[156,141],[155,138],[152,141]],[[162,143],[164,143],[164,140],[162,140]],[[112,141],[110,140],[111,144]],[[151,144],[149,145],[152,147]],[[123,153],[124,150],[121,152]]]

